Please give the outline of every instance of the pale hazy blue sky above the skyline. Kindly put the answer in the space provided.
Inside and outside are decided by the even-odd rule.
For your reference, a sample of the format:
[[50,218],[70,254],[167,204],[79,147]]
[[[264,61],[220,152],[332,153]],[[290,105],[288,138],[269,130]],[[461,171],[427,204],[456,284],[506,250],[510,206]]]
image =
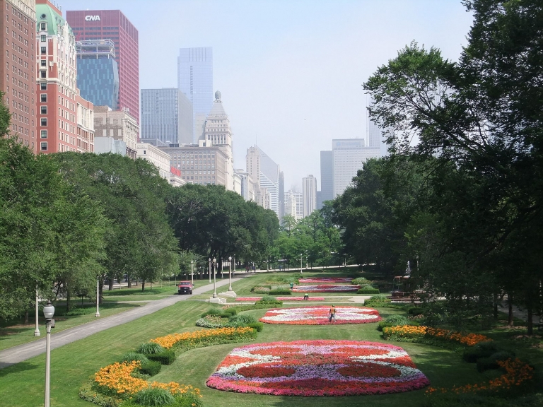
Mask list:
[[[361,84],[416,40],[457,60],[472,16],[460,0],[65,0],[63,11],[119,9],[139,30],[140,88],[177,87],[181,47],[213,47],[214,88],[233,128],[236,168],[258,144],[308,174],[332,138],[366,138]],[[320,187],[319,187],[320,189]]]

